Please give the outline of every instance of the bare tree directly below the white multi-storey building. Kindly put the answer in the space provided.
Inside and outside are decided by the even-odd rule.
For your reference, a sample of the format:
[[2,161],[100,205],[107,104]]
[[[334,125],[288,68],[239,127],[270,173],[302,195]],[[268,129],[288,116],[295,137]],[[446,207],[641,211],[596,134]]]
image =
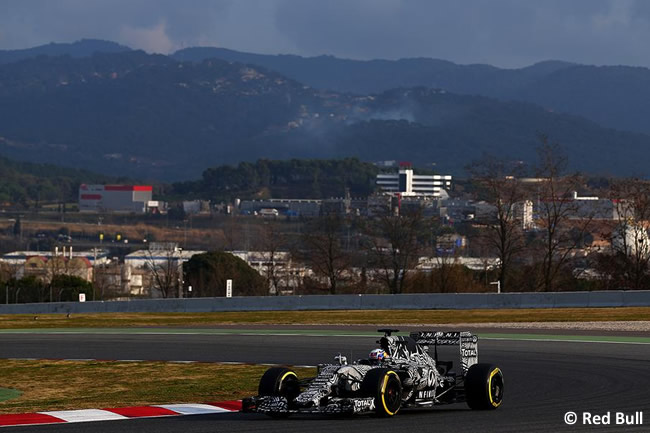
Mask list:
[[426,237],[422,209],[386,213],[368,226],[369,252],[391,294],[402,293],[409,270],[418,263]]

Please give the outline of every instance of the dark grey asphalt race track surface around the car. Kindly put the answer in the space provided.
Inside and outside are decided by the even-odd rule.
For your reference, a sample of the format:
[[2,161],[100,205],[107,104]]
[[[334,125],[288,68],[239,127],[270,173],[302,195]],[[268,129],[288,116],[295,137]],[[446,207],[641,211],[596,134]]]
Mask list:
[[[235,332],[234,334],[232,332]],[[224,334],[0,334],[1,358],[95,358],[317,364],[341,352],[353,359],[375,347],[368,336]],[[345,333],[334,330],[334,334]],[[312,330],[312,333],[318,333]],[[252,334],[252,335],[250,335]],[[369,416],[219,414],[35,427],[6,432],[564,432],[650,431],[650,344],[482,339],[482,362],[504,371],[504,403],[490,412],[465,405],[403,411],[391,419]],[[540,337],[543,339],[544,337]],[[445,353],[446,354],[446,353]],[[644,426],[567,426],[567,411],[644,412]]]

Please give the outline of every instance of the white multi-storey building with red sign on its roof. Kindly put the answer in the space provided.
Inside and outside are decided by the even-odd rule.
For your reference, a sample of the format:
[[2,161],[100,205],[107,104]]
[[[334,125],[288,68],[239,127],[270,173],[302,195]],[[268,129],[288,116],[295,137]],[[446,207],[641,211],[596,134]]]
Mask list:
[[444,189],[451,187],[450,175],[414,174],[409,163],[400,163],[395,174],[378,174],[377,186],[384,192],[401,196],[440,197]]

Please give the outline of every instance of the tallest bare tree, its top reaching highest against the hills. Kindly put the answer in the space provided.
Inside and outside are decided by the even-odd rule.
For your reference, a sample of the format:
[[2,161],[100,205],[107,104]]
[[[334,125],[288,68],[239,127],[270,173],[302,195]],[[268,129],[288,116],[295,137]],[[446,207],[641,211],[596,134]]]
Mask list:
[[550,143],[541,137],[542,145],[538,149],[539,167],[537,176],[539,186],[539,218],[544,233],[541,282],[544,291],[553,291],[560,271],[567,265],[571,253],[584,239],[593,219],[593,214],[578,216],[578,203],[573,194],[581,185],[577,174],[563,175],[567,158],[557,143]]

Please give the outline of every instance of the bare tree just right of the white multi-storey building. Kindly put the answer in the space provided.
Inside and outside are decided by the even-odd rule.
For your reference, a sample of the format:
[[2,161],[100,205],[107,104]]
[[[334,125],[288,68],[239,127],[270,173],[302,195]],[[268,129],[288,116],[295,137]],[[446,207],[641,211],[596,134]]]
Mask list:
[[504,290],[513,259],[525,248],[523,215],[518,215],[518,211],[524,213],[526,204],[526,191],[519,179],[521,168],[508,170],[503,161],[486,156],[471,166],[470,173],[496,208],[485,240],[499,258],[498,279]]

